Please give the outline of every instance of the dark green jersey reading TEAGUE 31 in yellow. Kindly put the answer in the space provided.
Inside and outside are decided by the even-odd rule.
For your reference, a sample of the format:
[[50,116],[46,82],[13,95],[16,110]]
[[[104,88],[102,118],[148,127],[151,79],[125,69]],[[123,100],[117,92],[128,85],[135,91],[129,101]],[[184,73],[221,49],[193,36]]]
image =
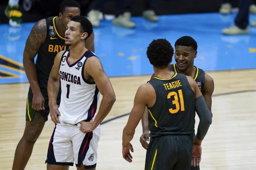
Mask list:
[[148,108],[150,137],[190,135],[195,126],[195,93],[184,74],[174,73],[169,80],[149,80],[156,93],[153,107]]

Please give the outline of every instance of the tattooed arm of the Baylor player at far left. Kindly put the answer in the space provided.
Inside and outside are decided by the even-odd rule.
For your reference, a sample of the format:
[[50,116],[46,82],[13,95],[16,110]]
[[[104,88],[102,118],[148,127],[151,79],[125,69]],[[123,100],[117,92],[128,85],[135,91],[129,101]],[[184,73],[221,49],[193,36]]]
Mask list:
[[32,109],[36,111],[44,109],[45,100],[39,88],[34,58],[45,41],[46,31],[46,20],[38,21],[31,29],[23,53],[23,66],[33,92]]

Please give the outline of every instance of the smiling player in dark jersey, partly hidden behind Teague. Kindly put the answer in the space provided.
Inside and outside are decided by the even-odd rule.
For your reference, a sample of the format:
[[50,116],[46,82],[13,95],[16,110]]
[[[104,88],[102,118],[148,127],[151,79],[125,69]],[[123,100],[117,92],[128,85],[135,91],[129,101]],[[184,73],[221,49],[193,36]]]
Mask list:
[[[192,77],[199,87],[199,90],[205,98],[207,107],[211,111],[211,96],[214,90],[213,79],[202,69],[194,66],[194,58],[197,57],[197,42],[190,36],[183,36],[175,42],[175,61],[176,64],[170,65],[170,71],[173,73],[183,73]],[[154,77],[154,74],[151,78]],[[211,113],[212,115],[212,113]],[[149,128],[147,112],[144,113],[142,119],[143,134],[140,142],[143,148],[147,149],[147,141],[149,141]],[[201,158],[199,158],[201,160]],[[200,161],[199,161],[200,162]],[[192,162],[193,163],[193,162]],[[199,170],[199,164],[191,164],[191,170]]]

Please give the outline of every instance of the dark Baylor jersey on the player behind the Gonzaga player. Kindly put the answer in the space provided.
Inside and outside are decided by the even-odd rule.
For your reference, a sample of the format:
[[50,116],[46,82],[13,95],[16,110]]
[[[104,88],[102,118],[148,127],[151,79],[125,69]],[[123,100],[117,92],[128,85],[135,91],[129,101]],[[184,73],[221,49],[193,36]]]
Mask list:
[[37,78],[40,88],[47,89],[47,82],[54,64],[54,58],[58,52],[66,50],[68,47],[64,45],[65,38],[59,35],[56,28],[56,18],[46,18],[47,33],[45,41],[42,43],[37,53],[35,66],[37,68]]

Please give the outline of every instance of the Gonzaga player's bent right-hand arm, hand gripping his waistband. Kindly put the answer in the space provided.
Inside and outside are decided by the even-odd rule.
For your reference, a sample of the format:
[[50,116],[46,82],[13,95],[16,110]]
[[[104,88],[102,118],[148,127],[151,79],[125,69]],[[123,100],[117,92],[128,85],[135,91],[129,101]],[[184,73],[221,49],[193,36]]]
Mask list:
[[81,123],[80,130],[83,133],[86,133],[93,131],[95,128],[97,128],[97,126],[110,112],[115,102],[115,93],[98,57],[89,57],[85,62],[84,68],[85,79],[89,82],[95,82],[96,86],[99,89],[99,92],[102,95],[101,104],[99,105],[99,111],[94,121],[91,120],[90,122],[78,122]]

